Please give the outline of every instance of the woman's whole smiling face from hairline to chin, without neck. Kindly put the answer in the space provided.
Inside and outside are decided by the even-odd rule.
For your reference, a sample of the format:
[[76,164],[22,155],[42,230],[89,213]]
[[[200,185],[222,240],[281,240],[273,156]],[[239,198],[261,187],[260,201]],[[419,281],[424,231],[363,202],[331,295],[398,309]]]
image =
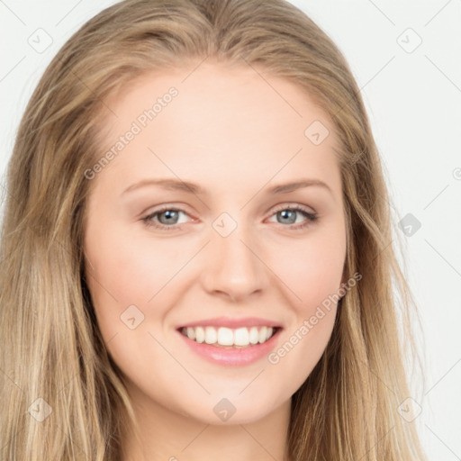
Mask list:
[[222,64],[144,76],[106,104],[85,252],[108,351],[133,401],[258,420],[290,401],[334,325],[333,125],[293,83]]

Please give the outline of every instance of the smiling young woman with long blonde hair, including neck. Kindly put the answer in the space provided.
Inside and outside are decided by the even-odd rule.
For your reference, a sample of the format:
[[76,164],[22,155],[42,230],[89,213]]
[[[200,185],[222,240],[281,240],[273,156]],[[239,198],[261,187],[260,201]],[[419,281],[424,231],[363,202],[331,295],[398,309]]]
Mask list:
[[41,78],[7,185],[2,458],[424,459],[380,158],[293,5],[107,8]]

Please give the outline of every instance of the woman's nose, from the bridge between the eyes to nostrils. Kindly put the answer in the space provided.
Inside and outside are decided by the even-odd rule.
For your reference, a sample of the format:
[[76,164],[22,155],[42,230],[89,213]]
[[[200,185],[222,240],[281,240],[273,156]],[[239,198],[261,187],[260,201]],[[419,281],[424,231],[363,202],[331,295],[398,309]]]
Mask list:
[[213,235],[207,247],[201,275],[207,293],[240,302],[267,288],[268,269],[261,251],[240,226],[227,237]]

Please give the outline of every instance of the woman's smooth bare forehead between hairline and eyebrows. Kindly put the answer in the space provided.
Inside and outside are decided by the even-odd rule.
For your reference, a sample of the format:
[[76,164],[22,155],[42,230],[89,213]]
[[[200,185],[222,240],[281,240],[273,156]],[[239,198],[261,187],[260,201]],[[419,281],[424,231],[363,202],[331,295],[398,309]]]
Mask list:
[[167,174],[243,185],[298,175],[339,188],[328,113],[300,86],[261,69],[204,62],[145,74],[106,104],[116,117],[105,121],[104,149],[116,155],[101,176],[111,182]]

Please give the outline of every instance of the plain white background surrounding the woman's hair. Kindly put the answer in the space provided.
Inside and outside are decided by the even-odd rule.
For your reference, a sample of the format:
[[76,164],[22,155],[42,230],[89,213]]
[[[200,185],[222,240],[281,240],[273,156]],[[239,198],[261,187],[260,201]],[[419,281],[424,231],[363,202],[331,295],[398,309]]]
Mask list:
[[[15,132],[44,68],[73,32],[113,3],[0,1],[0,194]],[[292,3],[337,43],[357,78],[395,221],[407,213],[420,221],[419,230],[401,236],[424,333],[425,392],[414,396],[422,409],[416,423],[429,459],[461,459],[461,1]],[[41,53],[29,44],[39,28],[52,38]]]

